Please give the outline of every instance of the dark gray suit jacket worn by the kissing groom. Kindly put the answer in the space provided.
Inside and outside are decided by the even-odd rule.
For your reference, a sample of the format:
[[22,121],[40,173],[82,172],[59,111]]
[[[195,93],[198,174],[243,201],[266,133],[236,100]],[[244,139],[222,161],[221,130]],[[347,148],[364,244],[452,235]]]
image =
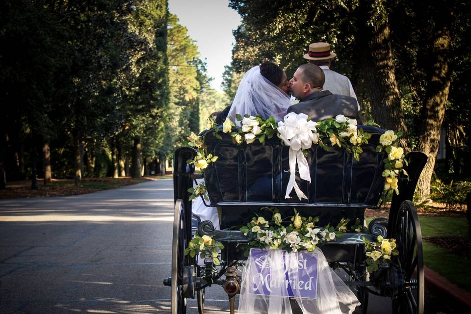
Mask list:
[[363,124],[355,98],[334,95],[328,90],[309,94],[298,104],[290,106],[287,113],[290,112],[305,113],[315,122],[343,114],[345,117],[357,119],[359,125]]

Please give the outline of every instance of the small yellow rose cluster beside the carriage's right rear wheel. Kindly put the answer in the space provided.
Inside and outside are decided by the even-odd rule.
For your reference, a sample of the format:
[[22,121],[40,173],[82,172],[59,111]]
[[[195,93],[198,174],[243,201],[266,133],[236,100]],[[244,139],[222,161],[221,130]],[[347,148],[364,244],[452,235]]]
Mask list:
[[379,270],[383,263],[391,264],[391,256],[399,255],[396,250],[396,239],[385,239],[378,235],[376,242],[370,242],[363,237],[366,246],[366,270],[371,274]]

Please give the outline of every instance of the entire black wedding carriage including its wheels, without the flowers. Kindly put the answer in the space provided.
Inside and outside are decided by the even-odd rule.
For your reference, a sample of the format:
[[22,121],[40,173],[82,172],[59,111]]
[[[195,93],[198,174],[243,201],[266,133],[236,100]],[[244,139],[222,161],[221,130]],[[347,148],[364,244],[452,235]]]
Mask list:
[[[323,149],[316,145],[310,149],[307,160],[311,183],[296,176],[296,182],[308,197],[303,201],[296,196],[284,197],[289,177],[289,147],[282,145],[276,136],[264,145],[236,145],[227,134],[219,132],[222,139],[217,139],[211,134],[213,131],[207,132],[208,153],[218,159],[209,164],[204,175],[195,174],[194,166],[187,163],[196,155],[196,150],[178,149],[174,158],[172,273],[164,280],[172,289],[172,313],[186,313],[186,299],[195,297],[203,313],[205,287],[210,285],[223,286],[229,295],[231,313],[234,313],[234,295],[240,287],[240,278],[233,266],[246,260],[241,244],[247,243],[247,237],[234,227],[245,225],[254,212],[263,215],[262,207],[277,207],[282,215],[292,215],[296,208],[301,215],[319,216],[320,225],[337,223],[342,217],[349,218],[351,223],[357,218],[364,221],[366,208],[377,209],[384,189],[382,160],[386,154],[377,153],[376,146],[384,131],[369,126],[359,128],[372,135],[369,143],[362,145],[359,161],[344,148]],[[373,219],[368,225],[369,233],[347,232],[335,241],[318,246],[332,267],[344,269],[350,277],[346,284],[356,291],[361,302],[357,313],[366,313],[369,293],[391,297],[393,313],[423,313],[421,232],[412,198],[427,157],[412,152],[406,159],[409,177],[399,179],[399,194],[392,197],[388,218]],[[192,219],[188,188],[203,177],[209,194],[208,206],[218,208],[221,230],[213,230],[209,221]],[[198,266],[195,259],[184,256],[192,232],[200,236],[212,235],[224,244],[222,262],[216,272],[210,261]],[[400,254],[393,257],[391,265],[384,265],[374,276],[367,276],[362,238],[371,240],[377,235],[395,238]]]

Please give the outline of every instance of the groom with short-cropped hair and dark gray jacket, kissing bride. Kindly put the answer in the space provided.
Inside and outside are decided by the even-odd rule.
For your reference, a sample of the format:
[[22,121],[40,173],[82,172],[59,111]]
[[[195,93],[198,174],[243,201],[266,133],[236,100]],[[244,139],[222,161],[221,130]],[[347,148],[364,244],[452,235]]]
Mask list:
[[362,124],[356,99],[322,90],[324,81],[324,72],[317,65],[307,63],[299,66],[289,83],[291,94],[300,102],[290,106],[287,113],[305,113],[315,122],[343,114]]

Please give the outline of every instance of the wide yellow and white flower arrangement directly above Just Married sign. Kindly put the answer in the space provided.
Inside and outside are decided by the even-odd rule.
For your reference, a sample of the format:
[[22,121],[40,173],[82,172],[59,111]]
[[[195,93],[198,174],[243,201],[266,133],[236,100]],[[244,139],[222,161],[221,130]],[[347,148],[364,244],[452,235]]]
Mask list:
[[290,218],[287,227],[276,208],[264,207],[272,212],[271,219],[265,220],[263,216],[253,217],[252,221],[240,228],[248,237],[250,248],[283,249],[288,252],[300,250],[312,251],[317,244],[332,241],[347,231],[348,219],[342,218],[336,228],[329,224],[324,227],[316,226],[319,217],[302,217],[294,209],[294,216]]

